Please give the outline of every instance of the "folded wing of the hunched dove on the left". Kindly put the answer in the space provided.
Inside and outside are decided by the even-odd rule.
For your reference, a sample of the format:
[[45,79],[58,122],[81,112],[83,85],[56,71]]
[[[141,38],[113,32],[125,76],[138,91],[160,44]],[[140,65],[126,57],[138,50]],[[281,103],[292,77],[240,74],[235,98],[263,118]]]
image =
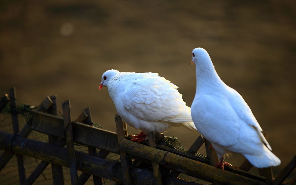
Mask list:
[[177,88],[157,74],[144,73],[126,86],[123,104],[128,112],[148,122],[192,122],[190,108]]

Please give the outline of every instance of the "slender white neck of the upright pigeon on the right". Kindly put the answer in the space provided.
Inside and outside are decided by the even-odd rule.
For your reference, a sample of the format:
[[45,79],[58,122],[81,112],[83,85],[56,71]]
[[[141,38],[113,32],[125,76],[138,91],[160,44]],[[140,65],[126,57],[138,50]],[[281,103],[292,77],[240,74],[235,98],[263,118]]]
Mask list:
[[218,76],[212,61],[196,63],[196,94],[204,89],[220,89],[223,81]]

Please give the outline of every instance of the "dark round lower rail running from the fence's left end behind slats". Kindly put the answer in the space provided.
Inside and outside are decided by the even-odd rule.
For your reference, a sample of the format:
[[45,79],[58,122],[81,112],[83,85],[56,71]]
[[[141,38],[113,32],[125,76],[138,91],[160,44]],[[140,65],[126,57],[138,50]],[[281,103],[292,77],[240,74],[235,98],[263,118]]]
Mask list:
[[[7,147],[9,147],[9,143],[7,141],[10,141],[12,137],[13,137],[12,134],[8,134],[0,131],[0,149],[6,149]],[[23,145],[22,143],[26,143],[26,145]],[[133,144],[136,144],[136,143],[133,143]],[[138,144],[138,145],[141,145],[141,144]],[[147,146],[144,146],[144,147],[151,148]],[[67,160],[68,159],[67,149],[64,147],[59,147],[49,143],[43,143],[41,141],[34,141],[34,140],[17,136],[15,138],[15,142],[13,143],[12,150],[18,154],[22,154],[30,157],[36,157],[41,160],[54,162],[55,164],[69,167],[68,160]],[[117,165],[117,160],[98,159],[97,157],[90,156],[84,152],[79,152],[79,151],[75,151],[75,155],[77,157],[76,159],[77,159],[78,170],[95,174],[97,176],[102,176],[112,181],[123,183],[121,166]],[[194,162],[192,161],[192,163]],[[140,168],[131,168],[131,174],[133,176],[133,184],[151,185],[151,184],[154,184],[155,182],[153,178],[154,177],[153,172],[150,172],[148,170],[143,170]],[[232,175],[234,177],[237,176],[236,174],[233,174],[233,173]],[[253,183],[248,183],[247,181],[248,185],[251,185],[251,184],[255,185],[255,183],[256,185],[263,185],[258,183],[258,181],[254,181],[252,179],[249,179],[249,180]],[[164,181],[167,182],[166,184],[197,185],[192,182],[188,182],[188,181],[177,179],[177,178],[172,179],[169,177],[165,178]],[[244,183],[244,184],[247,184],[247,183]]]

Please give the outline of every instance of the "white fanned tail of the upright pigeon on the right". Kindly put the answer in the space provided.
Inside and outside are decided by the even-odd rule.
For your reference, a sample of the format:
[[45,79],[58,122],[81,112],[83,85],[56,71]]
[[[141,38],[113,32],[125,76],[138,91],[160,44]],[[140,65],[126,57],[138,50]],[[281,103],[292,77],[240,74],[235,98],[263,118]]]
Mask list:
[[261,156],[258,155],[248,155],[243,154],[247,160],[250,161],[252,165],[257,168],[267,168],[270,166],[278,166],[281,164],[281,160],[276,157],[266,146],[264,147],[263,154]]

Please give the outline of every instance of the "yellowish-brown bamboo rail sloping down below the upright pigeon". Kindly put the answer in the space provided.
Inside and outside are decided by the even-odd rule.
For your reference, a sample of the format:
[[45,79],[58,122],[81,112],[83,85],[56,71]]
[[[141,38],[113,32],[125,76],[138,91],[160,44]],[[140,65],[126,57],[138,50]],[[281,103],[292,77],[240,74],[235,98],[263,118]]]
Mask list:
[[[232,173],[226,170],[207,165],[196,160],[189,159],[171,153],[170,151],[161,151],[152,147],[145,147],[142,144],[128,141],[127,139],[121,139],[119,143],[120,151],[126,152],[131,157],[137,156],[150,161],[158,162],[160,165],[164,165],[166,168],[178,170],[181,173],[185,173],[189,176],[203,179],[208,182],[217,181],[222,184],[253,184],[242,175]],[[261,178],[262,179],[262,178]],[[255,182],[259,183],[257,179]]]

